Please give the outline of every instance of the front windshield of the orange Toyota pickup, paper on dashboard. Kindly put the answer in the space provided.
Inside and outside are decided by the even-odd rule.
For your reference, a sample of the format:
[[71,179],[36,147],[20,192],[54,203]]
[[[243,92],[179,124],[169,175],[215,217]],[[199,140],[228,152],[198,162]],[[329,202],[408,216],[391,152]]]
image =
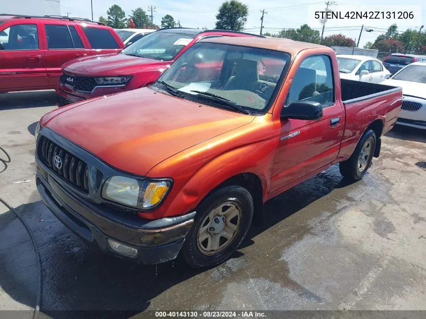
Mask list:
[[190,100],[266,113],[289,58],[285,52],[200,42],[179,56],[155,86],[162,89],[163,82]]

